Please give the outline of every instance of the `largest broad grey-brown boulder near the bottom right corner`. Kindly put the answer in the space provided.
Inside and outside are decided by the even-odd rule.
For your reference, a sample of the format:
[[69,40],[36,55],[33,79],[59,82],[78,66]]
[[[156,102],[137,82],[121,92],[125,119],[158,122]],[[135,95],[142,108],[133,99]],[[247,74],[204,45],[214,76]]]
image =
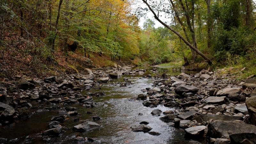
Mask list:
[[256,126],[235,122],[213,121],[208,124],[208,131],[213,138],[220,138],[222,136],[228,138],[230,134],[234,133],[256,133]]

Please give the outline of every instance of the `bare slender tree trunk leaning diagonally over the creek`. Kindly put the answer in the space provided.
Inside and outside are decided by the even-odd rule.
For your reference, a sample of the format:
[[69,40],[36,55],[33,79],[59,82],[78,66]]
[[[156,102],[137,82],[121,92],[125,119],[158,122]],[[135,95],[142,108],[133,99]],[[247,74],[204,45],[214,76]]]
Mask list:
[[201,55],[201,56],[204,58],[204,60],[206,60],[206,61],[209,63],[209,65],[212,65],[212,61],[211,61],[210,59],[208,59],[202,52],[200,52],[198,49],[196,49],[192,44],[188,43],[188,41],[187,41],[183,36],[181,36],[179,32],[177,32],[177,31],[174,30],[172,27],[168,26],[166,23],[164,23],[162,20],[160,20],[160,19],[157,17],[156,13],[153,11],[153,9],[150,7],[150,5],[146,2],[146,0],[142,0],[142,1],[143,1],[145,4],[147,4],[149,10],[154,14],[154,17],[155,17],[155,19],[156,19],[157,21],[159,21],[159,22],[160,22],[162,25],[164,25],[166,28],[168,28],[168,29],[170,29],[172,32],[174,32],[177,36],[179,36],[179,37],[182,39],[182,41],[183,41],[185,44],[187,44],[190,48],[192,48],[194,51],[196,51],[196,53],[198,53],[199,55]]

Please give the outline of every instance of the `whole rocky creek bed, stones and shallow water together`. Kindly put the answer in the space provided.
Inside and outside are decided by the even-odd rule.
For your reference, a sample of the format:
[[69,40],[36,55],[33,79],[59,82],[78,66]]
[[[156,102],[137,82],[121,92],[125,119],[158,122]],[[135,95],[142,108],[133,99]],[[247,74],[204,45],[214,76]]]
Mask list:
[[15,79],[0,84],[1,143],[256,143],[253,76],[124,66]]

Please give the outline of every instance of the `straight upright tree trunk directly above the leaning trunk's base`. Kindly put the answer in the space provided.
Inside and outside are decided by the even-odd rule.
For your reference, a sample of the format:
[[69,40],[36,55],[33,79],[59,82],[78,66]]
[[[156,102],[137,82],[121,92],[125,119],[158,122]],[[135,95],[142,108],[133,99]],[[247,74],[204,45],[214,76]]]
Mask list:
[[205,0],[207,4],[207,47],[211,48],[211,40],[212,40],[212,20],[211,20],[211,0]]

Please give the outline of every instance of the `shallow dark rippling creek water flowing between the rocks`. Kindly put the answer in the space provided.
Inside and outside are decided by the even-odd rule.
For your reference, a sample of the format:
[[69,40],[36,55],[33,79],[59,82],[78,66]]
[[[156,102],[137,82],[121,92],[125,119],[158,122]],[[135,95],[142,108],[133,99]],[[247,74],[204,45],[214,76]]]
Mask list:
[[[126,87],[119,87],[116,82],[123,82],[124,78],[128,78],[133,84]],[[52,116],[57,116],[58,111],[52,110],[48,112],[41,112],[32,115],[28,119],[21,119],[15,121],[8,126],[0,127],[0,137],[8,140],[16,139],[13,143],[77,143],[72,141],[75,136],[90,137],[94,143],[131,143],[131,144],[176,144],[188,143],[184,139],[184,130],[177,129],[168,125],[159,118],[164,116],[153,116],[151,111],[155,108],[148,108],[142,105],[142,100],[135,100],[129,98],[136,98],[138,94],[142,93],[140,90],[147,87],[152,88],[154,79],[142,78],[141,76],[123,76],[114,81],[102,84],[100,90],[91,89],[83,91],[82,93],[103,91],[104,96],[95,97],[93,99],[98,102],[98,106],[94,108],[84,108],[82,105],[74,104],[68,105],[77,107],[78,116],[68,116],[68,120],[60,125],[65,126],[65,131],[58,137],[42,136],[42,131],[49,129],[48,123]],[[104,103],[108,107],[103,107]],[[159,105],[157,108],[162,111],[174,110]],[[87,111],[93,114],[87,114]],[[138,115],[142,113],[143,115]],[[92,120],[92,116],[100,116],[101,119],[95,121],[100,124],[99,129],[94,129],[88,132],[75,132],[72,130],[73,126],[81,122],[74,122],[76,117],[81,120]],[[151,131],[160,132],[158,136],[150,135],[144,132],[132,132],[130,127],[134,124],[139,124],[141,121],[149,122],[148,126],[153,128]]]

